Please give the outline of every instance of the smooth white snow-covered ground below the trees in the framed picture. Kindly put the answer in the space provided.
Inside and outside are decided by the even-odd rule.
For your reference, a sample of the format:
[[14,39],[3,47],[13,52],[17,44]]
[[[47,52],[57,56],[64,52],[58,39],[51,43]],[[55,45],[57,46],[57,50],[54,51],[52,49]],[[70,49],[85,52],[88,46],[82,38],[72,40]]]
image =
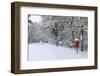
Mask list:
[[46,43],[33,43],[29,44],[29,61],[34,60],[64,60],[64,59],[78,59],[78,58],[87,58],[88,52],[78,53],[74,49],[55,46]]

